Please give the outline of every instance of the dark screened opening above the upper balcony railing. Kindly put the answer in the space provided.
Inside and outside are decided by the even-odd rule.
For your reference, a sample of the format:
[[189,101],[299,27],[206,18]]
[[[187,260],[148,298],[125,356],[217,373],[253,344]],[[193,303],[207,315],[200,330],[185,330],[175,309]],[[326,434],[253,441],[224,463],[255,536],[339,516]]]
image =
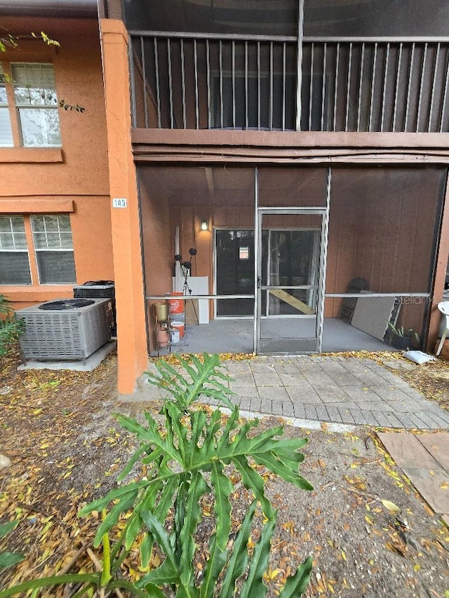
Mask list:
[[[297,34],[297,0],[124,0],[128,29]],[[448,36],[449,0],[304,0],[309,36]]]

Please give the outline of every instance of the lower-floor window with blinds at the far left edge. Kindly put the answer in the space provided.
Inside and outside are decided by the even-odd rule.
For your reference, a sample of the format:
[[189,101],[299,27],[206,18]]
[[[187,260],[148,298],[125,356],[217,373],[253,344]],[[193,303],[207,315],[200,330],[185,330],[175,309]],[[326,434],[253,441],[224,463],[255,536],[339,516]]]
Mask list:
[[0,216],[0,285],[31,285],[23,216]]

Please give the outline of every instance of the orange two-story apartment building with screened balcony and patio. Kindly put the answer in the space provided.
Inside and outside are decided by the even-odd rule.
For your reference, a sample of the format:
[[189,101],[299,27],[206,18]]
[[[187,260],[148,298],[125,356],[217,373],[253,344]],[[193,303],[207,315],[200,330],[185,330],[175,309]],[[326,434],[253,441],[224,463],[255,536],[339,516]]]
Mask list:
[[22,306],[114,279],[122,394],[154,349],[175,254],[192,248],[210,321],[250,319],[257,353],[325,351],[354,300],[377,324],[391,304],[433,346],[449,233],[443,0],[73,5],[2,9],[12,33],[61,45],[1,56],[1,292]]

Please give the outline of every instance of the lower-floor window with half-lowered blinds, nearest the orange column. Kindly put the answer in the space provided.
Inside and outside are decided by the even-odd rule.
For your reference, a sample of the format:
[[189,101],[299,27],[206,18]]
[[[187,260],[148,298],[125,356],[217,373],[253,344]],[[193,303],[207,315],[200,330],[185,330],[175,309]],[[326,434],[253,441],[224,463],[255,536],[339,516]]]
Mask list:
[[72,229],[68,215],[31,217],[41,285],[76,283]]

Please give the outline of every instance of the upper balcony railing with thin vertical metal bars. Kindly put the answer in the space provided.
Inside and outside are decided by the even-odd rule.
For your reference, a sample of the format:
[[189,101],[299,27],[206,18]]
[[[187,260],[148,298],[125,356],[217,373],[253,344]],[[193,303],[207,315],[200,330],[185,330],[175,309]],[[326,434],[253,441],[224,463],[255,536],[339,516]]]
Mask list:
[[131,40],[135,127],[449,131],[447,40]]

